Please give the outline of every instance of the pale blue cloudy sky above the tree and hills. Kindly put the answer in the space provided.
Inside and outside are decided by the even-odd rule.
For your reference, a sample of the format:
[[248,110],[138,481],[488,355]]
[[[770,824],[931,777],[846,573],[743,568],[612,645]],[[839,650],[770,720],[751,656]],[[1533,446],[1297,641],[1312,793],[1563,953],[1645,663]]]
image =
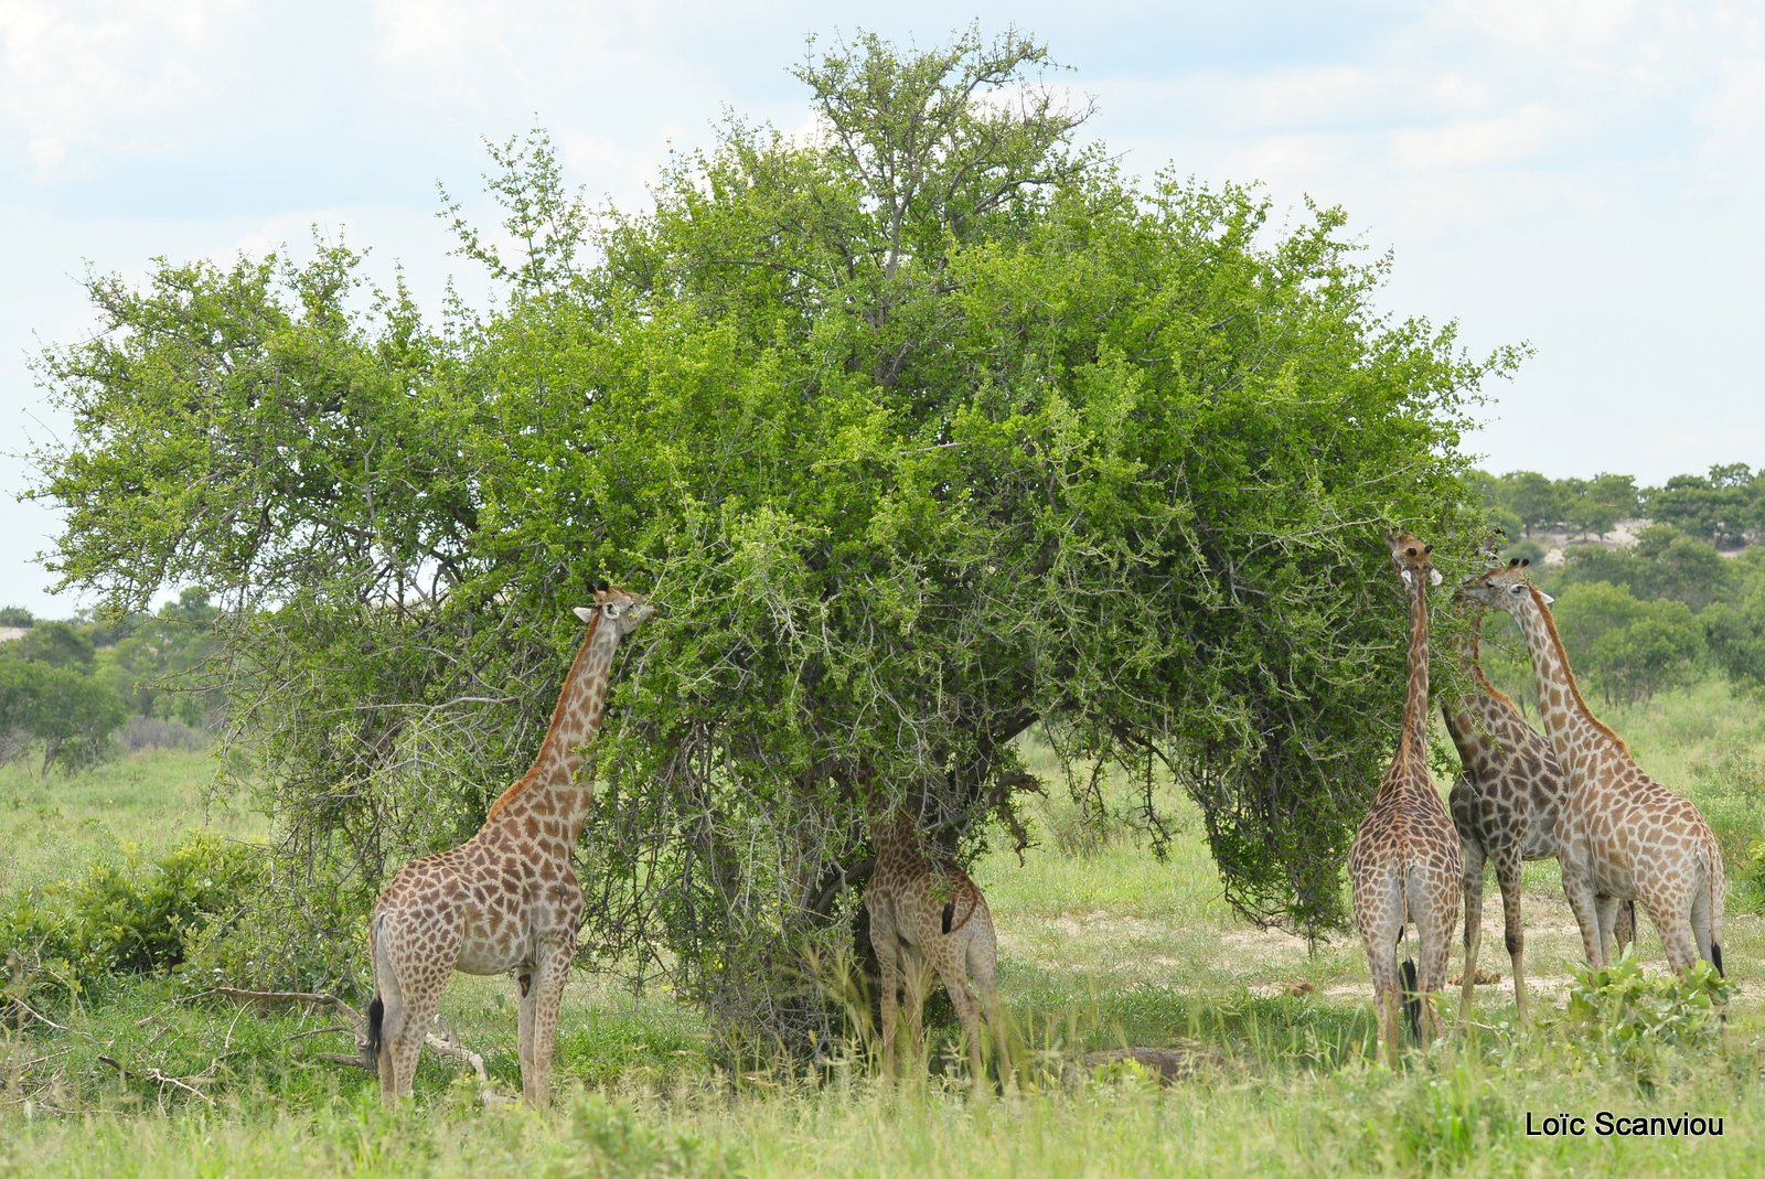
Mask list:
[[[1386,305],[1536,357],[1470,439],[1497,471],[1656,484],[1765,466],[1765,18],[1756,4],[893,5],[0,0],[0,605],[65,616],[14,503],[65,431],[26,358],[90,328],[79,275],[231,259],[319,233],[454,275],[484,138],[551,131],[568,178],[632,207],[722,109],[808,129],[808,34],[1043,37],[1089,134],[1151,175],[1343,205],[1391,251]],[[489,222],[484,215],[480,221]]]

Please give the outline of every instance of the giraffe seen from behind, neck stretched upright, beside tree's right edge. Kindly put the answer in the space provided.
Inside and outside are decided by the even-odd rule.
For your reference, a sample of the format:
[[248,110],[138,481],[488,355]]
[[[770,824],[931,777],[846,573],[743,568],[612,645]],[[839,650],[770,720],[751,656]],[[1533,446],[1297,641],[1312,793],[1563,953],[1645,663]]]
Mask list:
[[1391,537],[1389,544],[1410,598],[1403,729],[1348,849],[1348,877],[1354,884],[1354,925],[1366,942],[1373,974],[1378,1034],[1386,1041],[1387,1063],[1396,1068],[1401,1003],[1398,939],[1405,921],[1414,921],[1421,946],[1416,988],[1424,999],[1416,1031],[1426,1045],[1438,1031],[1438,1015],[1426,997],[1446,980],[1465,856],[1428,773],[1428,586],[1440,584],[1440,574],[1433,567],[1433,545],[1408,533]]

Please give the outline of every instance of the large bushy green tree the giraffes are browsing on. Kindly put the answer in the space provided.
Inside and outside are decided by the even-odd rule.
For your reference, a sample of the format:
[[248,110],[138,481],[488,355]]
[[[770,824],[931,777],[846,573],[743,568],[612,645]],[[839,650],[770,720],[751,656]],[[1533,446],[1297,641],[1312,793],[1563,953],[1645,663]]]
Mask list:
[[604,222],[542,136],[494,148],[528,258],[466,231],[507,300],[443,332],[351,311],[339,251],[97,281],[115,330],[44,364],[65,579],[258,607],[238,734],[364,898],[531,757],[586,584],[653,593],[588,941],[667,948],[732,1025],[819,1008],[780,980],[849,937],[868,810],[965,858],[1038,725],[1131,768],[1154,837],[1175,775],[1246,914],[1340,925],[1403,687],[1380,531],[1470,552],[1458,439],[1516,357],[1378,311],[1340,210],[1123,176],[1045,65],[812,49],[817,136],[731,120]]

